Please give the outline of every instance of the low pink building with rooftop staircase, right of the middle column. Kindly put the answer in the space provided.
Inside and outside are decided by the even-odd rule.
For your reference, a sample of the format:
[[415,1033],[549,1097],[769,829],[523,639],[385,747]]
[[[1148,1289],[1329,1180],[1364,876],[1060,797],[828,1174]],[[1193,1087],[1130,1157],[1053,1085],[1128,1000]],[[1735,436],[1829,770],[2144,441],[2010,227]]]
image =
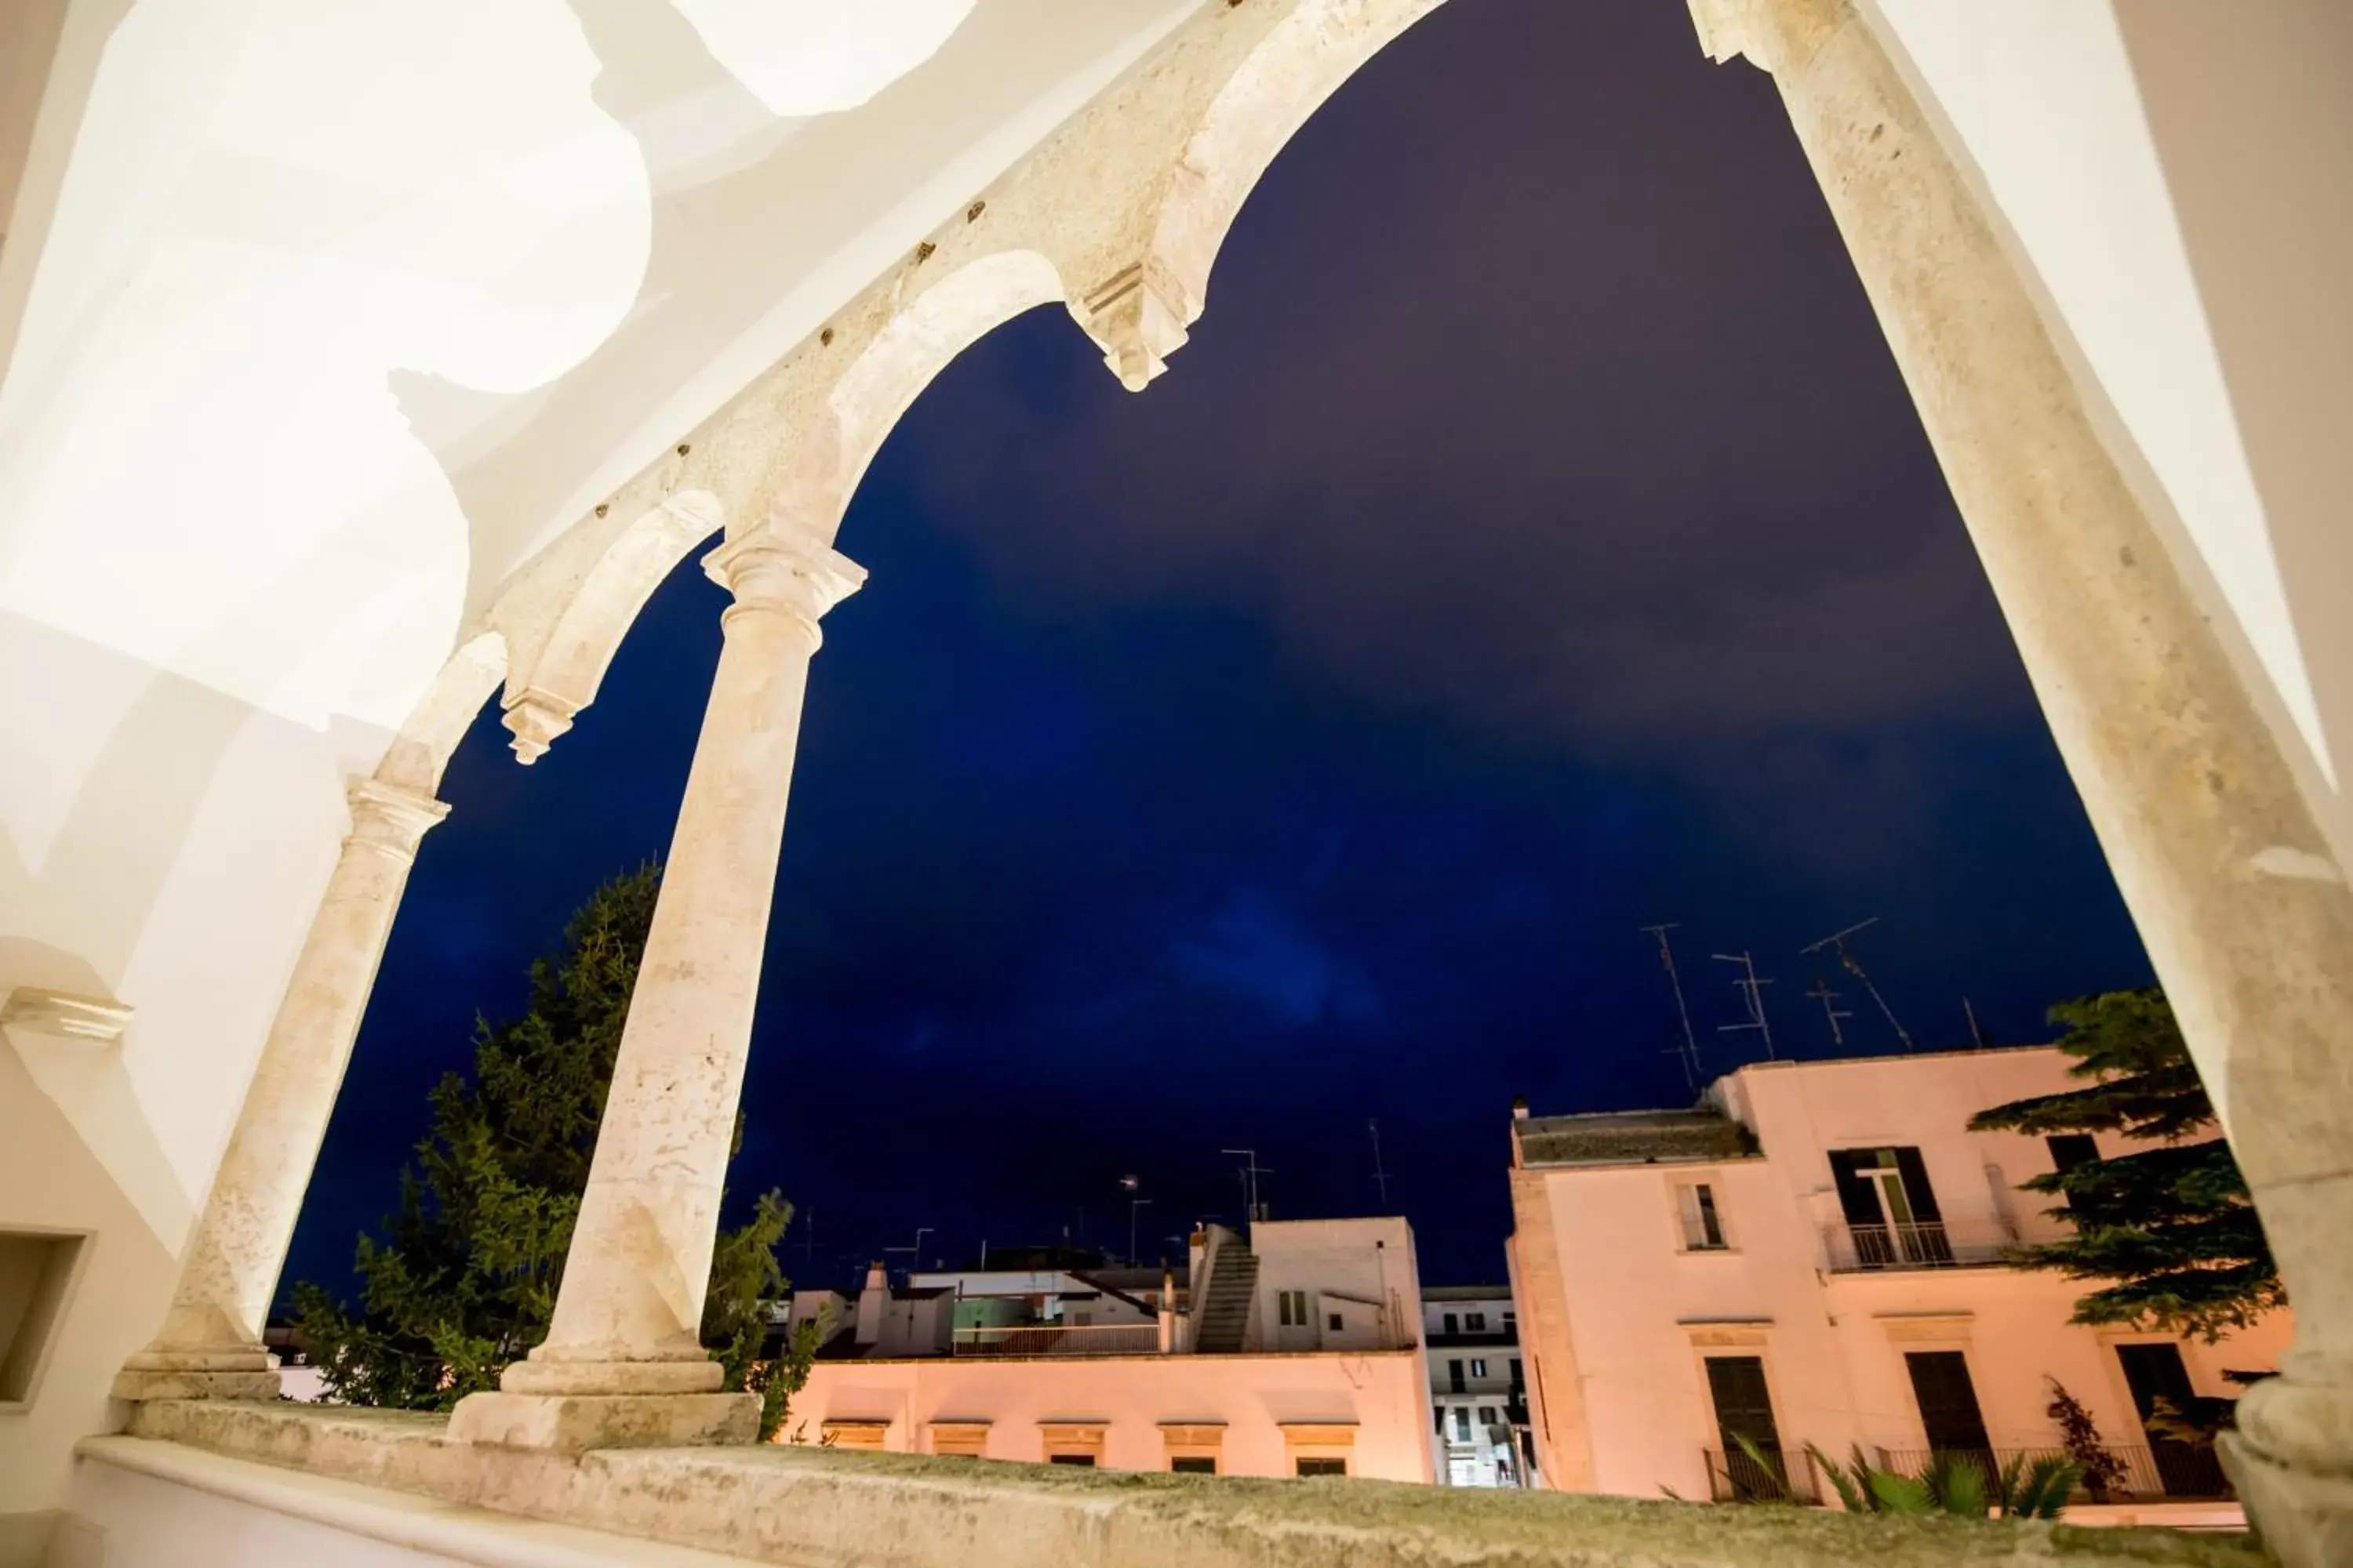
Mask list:
[[[1405,1220],[1212,1225],[1158,1288],[868,1279],[784,1441],[1231,1476],[1431,1481]],[[1012,1291],[1009,1286],[1019,1286]],[[976,1295],[974,1291],[988,1291]],[[800,1305],[795,1305],[795,1316]]]

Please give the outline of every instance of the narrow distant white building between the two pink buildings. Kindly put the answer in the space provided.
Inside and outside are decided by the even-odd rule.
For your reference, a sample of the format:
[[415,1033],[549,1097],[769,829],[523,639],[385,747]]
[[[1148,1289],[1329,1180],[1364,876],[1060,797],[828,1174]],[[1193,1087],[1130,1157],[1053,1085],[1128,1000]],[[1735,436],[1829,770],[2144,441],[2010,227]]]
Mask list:
[[1438,1479],[1529,1486],[1527,1363],[1511,1286],[1426,1286],[1421,1342],[1431,1359]]

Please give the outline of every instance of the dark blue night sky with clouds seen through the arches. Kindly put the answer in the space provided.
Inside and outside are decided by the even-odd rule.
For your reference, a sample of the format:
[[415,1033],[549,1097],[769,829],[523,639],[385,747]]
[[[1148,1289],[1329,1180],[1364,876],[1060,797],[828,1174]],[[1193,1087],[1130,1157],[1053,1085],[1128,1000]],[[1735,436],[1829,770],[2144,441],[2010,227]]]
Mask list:
[[[1061,310],[958,360],[840,534],[729,1213],[854,1279],[1391,1208],[1501,1279],[1511,1098],[2042,1039],[2148,980],[1769,80],[1680,5],[1454,0],[1275,162],[1146,395]],[[287,1279],[344,1281],[475,1011],[664,851],[725,595],[689,559],[532,769],[449,766]],[[908,1253],[894,1253],[904,1262]]]

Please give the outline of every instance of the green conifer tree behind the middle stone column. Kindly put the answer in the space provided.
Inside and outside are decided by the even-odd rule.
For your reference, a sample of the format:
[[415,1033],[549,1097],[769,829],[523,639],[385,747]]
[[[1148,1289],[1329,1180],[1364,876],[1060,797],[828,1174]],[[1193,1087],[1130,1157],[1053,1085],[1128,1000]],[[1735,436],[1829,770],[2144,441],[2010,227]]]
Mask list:
[[[600,886],[565,924],[562,952],[532,964],[522,1018],[475,1020],[473,1077],[452,1072],[433,1088],[433,1124],[400,1173],[384,1239],[360,1237],[360,1312],[325,1286],[294,1286],[296,1331],[334,1399],[445,1410],[496,1387],[546,1338],[659,886],[659,865]],[[704,1342],[727,1387],[779,1389],[762,1436],[814,1354],[798,1335],[786,1366],[762,1361],[791,1218],[769,1192],[722,1232],[704,1302]]]

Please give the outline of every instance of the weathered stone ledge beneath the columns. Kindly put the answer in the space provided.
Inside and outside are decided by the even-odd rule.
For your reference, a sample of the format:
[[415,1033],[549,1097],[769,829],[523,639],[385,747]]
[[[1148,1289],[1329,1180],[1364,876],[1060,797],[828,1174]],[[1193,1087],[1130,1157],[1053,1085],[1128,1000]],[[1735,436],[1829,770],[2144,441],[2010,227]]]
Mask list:
[[[1247,1481],[819,1448],[473,1448],[442,1418],[148,1403],[132,1436],[758,1563],[861,1568],[2259,1568],[2245,1540]],[[101,1439],[106,1458],[125,1439]],[[94,1458],[99,1450],[92,1450]]]

